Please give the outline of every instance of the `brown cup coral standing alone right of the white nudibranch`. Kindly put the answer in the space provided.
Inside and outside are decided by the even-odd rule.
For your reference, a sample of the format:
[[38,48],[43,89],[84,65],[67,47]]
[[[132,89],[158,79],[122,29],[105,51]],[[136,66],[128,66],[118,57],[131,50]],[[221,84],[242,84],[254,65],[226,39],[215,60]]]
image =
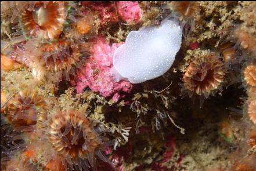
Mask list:
[[218,56],[197,57],[186,68],[182,91],[188,92],[190,97],[196,93],[207,99],[215,90],[222,90],[224,76],[225,69]]

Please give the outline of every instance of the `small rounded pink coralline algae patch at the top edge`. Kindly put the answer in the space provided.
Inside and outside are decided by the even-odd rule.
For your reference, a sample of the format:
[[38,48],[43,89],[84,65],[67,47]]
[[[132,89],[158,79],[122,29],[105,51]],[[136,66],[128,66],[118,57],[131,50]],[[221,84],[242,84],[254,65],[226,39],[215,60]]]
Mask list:
[[118,14],[127,23],[138,23],[142,17],[142,10],[138,1],[119,1]]

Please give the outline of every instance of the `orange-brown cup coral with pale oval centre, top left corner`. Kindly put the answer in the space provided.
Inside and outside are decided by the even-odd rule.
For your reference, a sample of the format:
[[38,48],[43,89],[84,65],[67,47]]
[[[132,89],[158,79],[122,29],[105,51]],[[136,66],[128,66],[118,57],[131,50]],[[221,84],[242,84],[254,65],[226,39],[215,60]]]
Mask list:
[[69,8],[68,2],[16,3],[12,20],[19,16],[17,29],[11,35],[16,39],[41,37],[46,40],[58,38],[64,28]]

